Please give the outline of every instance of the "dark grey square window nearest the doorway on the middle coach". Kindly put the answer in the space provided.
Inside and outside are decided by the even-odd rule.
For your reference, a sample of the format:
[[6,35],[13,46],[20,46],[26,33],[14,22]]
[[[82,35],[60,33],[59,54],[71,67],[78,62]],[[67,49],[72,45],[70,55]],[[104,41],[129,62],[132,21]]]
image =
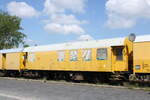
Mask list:
[[107,59],[107,48],[97,49],[97,60],[106,60]]

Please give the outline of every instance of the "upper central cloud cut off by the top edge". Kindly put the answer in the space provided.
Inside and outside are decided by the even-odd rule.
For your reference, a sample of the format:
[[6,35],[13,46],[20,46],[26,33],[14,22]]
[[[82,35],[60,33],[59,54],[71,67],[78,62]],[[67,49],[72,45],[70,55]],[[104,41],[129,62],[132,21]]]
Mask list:
[[45,0],[44,12],[51,15],[62,13],[66,10],[73,12],[84,12],[86,0]]

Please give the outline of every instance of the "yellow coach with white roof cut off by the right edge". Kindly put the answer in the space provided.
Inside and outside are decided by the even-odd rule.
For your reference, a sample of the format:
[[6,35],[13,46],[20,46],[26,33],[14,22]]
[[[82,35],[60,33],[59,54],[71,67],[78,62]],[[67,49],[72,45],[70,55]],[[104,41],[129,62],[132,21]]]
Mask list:
[[133,44],[134,70],[130,80],[150,81],[150,35],[136,37]]

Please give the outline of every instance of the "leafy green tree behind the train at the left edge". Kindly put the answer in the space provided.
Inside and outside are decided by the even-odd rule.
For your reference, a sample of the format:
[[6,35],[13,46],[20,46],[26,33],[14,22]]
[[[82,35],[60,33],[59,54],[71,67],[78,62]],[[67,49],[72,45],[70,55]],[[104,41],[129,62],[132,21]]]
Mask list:
[[21,19],[0,11],[0,49],[17,48],[24,45],[26,35],[22,30]]

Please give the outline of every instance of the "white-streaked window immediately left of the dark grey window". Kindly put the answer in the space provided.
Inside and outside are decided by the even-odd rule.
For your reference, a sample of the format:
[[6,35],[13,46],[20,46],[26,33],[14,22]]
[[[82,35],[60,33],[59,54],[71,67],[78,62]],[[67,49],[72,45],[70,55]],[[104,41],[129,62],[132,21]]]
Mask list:
[[84,61],[90,61],[91,60],[91,54],[92,54],[91,49],[82,50],[82,59]]

